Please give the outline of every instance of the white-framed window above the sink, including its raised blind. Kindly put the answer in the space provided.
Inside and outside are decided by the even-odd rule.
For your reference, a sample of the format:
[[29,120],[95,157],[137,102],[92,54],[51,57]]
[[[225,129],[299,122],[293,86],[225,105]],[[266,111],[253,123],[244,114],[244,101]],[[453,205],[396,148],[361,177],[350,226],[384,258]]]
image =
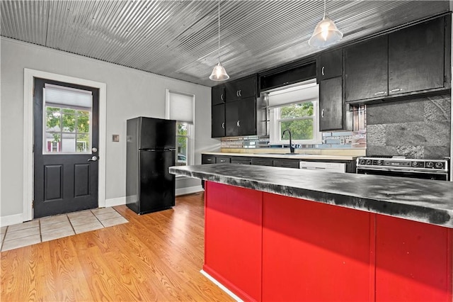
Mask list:
[[321,143],[319,132],[319,87],[309,80],[289,88],[268,93],[270,113],[270,143],[289,144],[289,129],[293,144],[311,145]]

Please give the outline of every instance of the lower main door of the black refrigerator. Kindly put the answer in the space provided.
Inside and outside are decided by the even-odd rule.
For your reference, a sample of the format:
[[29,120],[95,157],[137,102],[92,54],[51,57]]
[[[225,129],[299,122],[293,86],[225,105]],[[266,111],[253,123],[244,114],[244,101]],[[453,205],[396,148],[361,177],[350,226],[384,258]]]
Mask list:
[[175,165],[176,151],[139,152],[139,213],[165,210],[175,205],[175,175],[168,167]]

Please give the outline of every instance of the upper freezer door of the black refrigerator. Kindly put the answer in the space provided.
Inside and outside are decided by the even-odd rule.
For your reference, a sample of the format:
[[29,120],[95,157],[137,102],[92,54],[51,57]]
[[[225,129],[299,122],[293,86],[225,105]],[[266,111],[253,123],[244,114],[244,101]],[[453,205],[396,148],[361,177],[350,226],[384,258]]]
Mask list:
[[175,149],[176,121],[141,118],[139,149]]

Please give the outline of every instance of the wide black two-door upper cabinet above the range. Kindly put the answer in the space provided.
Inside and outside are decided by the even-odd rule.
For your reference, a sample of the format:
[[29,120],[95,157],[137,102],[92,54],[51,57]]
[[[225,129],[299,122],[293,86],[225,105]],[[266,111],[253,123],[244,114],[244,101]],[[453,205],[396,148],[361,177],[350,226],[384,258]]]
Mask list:
[[362,103],[449,89],[451,16],[346,47],[345,101]]

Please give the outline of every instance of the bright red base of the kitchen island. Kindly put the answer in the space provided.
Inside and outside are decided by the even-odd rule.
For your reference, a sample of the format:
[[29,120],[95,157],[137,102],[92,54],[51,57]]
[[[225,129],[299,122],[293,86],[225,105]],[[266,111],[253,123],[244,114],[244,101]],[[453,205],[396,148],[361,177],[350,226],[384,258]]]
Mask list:
[[245,301],[452,301],[452,232],[205,182],[203,270]]

